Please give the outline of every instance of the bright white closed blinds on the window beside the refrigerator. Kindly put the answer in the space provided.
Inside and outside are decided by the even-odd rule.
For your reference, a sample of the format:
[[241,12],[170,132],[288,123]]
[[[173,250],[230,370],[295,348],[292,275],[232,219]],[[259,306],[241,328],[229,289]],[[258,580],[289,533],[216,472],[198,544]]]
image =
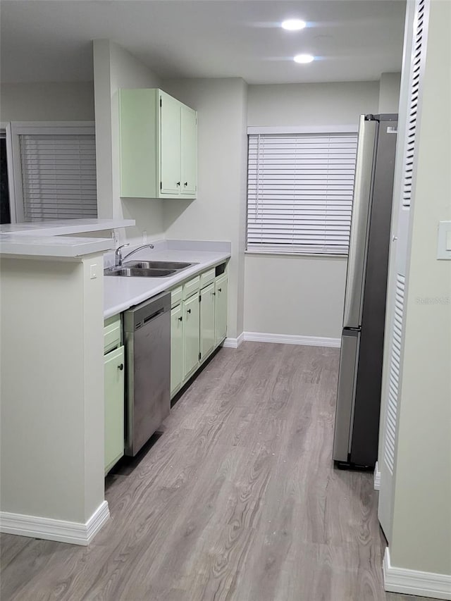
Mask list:
[[347,254],[356,133],[250,134],[247,250]]

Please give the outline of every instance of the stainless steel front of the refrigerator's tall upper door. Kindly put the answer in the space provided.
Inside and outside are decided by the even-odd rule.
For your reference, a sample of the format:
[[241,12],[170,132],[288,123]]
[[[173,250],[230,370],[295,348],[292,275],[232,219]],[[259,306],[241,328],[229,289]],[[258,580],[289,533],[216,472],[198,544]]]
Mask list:
[[364,115],[360,116],[343,328],[358,328],[362,323],[362,295],[377,131],[378,121],[366,120]]

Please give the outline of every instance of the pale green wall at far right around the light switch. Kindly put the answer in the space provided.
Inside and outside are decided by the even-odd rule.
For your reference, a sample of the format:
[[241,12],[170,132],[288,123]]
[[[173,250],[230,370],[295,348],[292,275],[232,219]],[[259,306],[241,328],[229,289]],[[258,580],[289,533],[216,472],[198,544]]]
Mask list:
[[451,220],[451,80],[444,77],[451,72],[450,23],[451,4],[432,1],[412,187],[412,242],[390,540],[393,566],[448,577],[451,261],[437,260],[436,253],[438,222]]

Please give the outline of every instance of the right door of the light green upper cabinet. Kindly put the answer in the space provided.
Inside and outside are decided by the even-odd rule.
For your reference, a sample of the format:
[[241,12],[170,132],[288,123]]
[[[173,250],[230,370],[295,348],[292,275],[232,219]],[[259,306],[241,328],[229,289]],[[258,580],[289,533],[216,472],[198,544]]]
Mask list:
[[197,113],[181,105],[181,194],[197,192]]

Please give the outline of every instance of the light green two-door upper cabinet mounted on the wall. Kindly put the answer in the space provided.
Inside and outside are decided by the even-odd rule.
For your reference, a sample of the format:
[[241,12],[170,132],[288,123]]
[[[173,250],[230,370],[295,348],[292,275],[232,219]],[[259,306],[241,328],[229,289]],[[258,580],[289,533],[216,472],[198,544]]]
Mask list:
[[121,197],[196,197],[196,111],[161,89],[120,89],[119,124]]

